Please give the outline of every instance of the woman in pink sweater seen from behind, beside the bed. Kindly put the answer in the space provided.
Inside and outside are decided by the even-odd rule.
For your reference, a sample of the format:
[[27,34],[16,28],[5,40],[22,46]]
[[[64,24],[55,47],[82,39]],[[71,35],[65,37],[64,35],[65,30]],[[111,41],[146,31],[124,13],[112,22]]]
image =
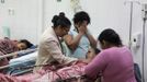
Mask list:
[[86,67],[87,77],[94,80],[102,72],[103,82],[136,82],[132,52],[120,36],[108,28],[99,40],[103,50]]

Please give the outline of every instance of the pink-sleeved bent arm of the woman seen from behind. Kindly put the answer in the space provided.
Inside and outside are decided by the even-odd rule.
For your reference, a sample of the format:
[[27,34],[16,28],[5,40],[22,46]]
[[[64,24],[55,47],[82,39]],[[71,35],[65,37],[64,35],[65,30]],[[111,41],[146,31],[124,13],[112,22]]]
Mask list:
[[105,69],[108,65],[108,57],[105,52],[100,52],[84,69],[88,78],[97,79],[99,73]]

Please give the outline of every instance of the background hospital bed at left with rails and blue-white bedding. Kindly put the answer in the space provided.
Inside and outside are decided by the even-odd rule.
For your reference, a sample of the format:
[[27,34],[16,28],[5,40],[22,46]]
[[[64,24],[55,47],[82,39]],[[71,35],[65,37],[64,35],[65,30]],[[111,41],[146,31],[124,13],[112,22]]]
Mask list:
[[2,66],[2,67],[0,67],[0,69],[7,69],[8,74],[14,74],[14,75],[30,72],[31,69],[20,69],[20,68],[22,68],[22,67],[26,68],[26,67],[35,65],[35,60],[37,57],[37,48],[21,50],[21,51],[8,54],[4,56],[0,56],[0,59],[7,58],[7,57],[12,57],[12,56],[15,56],[16,54],[21,54],[24,56],[11,59],[9,61],[9,65]]

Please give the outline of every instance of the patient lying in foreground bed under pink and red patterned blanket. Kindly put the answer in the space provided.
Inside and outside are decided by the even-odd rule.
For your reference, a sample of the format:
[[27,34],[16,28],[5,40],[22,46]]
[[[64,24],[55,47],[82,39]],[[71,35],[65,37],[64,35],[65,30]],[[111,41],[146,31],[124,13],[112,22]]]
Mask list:
[[86,62],[77,61],[72,66],[67,66],[61,69],[59,67],[45,67],[44,70],[39,70],[36,73],[20,75],[20,77],[10,77],[0,74],[0,82],[55,82],[57,80],[71,79],[79,75],[84,75],[84,67],[90,62],[95,55],[100,52],[99,49],[90,49],[87,54]]

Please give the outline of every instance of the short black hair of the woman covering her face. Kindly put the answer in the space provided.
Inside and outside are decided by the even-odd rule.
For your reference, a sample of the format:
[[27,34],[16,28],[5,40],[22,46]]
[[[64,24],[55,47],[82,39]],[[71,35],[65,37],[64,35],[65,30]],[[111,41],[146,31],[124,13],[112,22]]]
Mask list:
[[84,11],[80,11],[80,12],[77,12],[75,15],[74,15],[74,23],[77,24],[79,22],[83,22],[83,21],[87,21],[88,24],[90,23],[90,16],[87,12]]

